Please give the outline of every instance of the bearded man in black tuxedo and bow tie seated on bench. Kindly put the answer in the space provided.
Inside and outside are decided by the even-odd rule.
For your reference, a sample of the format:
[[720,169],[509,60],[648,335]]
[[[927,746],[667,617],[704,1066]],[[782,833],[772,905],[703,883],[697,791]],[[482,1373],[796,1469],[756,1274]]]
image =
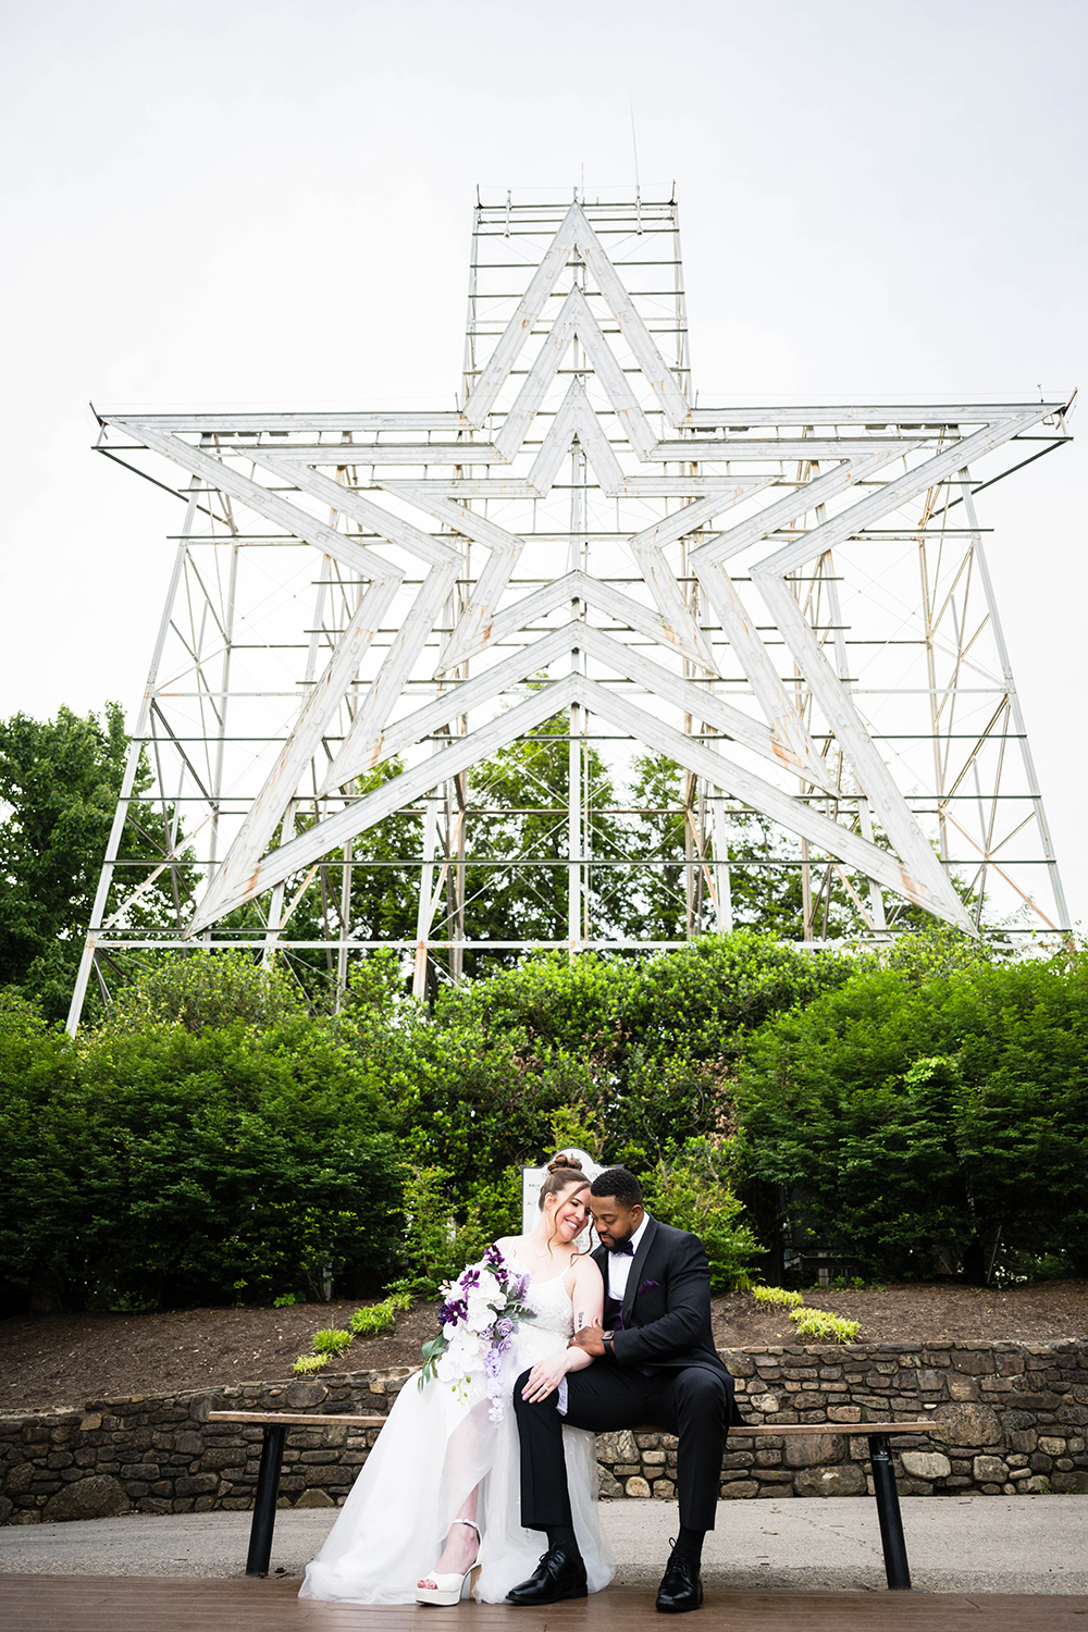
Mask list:
[[626,1167],[610,1167],[594,1180],[589,1206],[600,1237],[592,1257],[605,1283],[604,1330],[594,1325],[571,1338],[595,1363],[569,1373],[566,1390],[524,1400],[529,1373],[514,1387],[522,1438],[522,1524],[545,1531],[548,1550],[537,1572],[507,1594],[507,1603],[553,1604],[586,1596],[586,1567],[571,1523],[563,1423],[594,1433],[652,1423],[680,1439],[680,1534],[657,1593],[657,1609],[680,1614],[703,1603],[703,1536],[714,1528],[726,1431],[742,1420],[732,1377],[710,1330],[706,1252],[698,1237],[659,1224],[646,1213],[638,1178]]

